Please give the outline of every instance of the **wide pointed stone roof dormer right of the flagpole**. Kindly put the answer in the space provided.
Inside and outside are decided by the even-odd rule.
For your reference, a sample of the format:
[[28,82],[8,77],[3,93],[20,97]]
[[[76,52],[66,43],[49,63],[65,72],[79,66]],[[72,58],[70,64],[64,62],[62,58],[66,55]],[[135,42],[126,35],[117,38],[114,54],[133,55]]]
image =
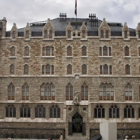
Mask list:
[[[108,37],[106,36],[107,31],[108,31]],[[101,32],[103,32],[103,36],[102,36]],[[105,18],[103,19],[103,21],[99,27],[98,34],[99,34],[99,37],[102,37],[102,38],[110,38],[110,36],[111,36],[111,29],[110,29],[109,25],[107,24]]]

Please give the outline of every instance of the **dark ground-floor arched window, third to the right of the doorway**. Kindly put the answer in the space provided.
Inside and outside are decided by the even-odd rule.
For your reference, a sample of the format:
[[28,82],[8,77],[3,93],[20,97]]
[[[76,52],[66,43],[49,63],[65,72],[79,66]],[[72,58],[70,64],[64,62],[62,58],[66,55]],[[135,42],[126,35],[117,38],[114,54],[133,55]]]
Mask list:
[[134,118],[134,108],[131,105],[127,105],[124,108],[124,118]]

